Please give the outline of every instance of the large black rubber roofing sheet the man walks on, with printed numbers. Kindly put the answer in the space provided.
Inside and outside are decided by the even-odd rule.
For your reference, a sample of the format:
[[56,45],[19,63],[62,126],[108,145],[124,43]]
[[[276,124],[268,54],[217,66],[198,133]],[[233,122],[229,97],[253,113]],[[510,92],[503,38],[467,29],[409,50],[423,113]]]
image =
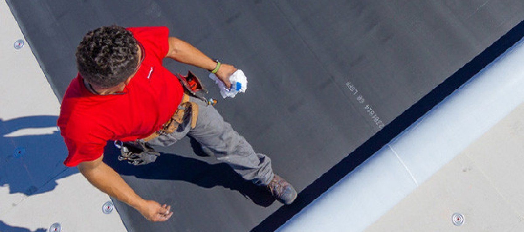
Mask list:
[[[140,196],[173,206],[168,222],[150,223],[115,200],[130,231],[278,228],[521,38],[524,19],[524,1],[7,2],[59,98],[77,43],[111,24],[168,26],[248,76],[247,93],[217,108],[297,202],[272,201],[189,138],[144,167],[108,146],[104,161]],[[193,70],[220,98],[204,70],[165,65]]]

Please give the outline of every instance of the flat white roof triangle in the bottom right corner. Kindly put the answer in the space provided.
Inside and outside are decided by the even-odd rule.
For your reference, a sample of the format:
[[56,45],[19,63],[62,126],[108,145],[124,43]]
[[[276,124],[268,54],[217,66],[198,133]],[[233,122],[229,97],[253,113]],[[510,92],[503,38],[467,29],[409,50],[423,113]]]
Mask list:
[[[523,141],[521,104],[366,230],[524,230]],[[465,217],[460,227],[455,212]]]

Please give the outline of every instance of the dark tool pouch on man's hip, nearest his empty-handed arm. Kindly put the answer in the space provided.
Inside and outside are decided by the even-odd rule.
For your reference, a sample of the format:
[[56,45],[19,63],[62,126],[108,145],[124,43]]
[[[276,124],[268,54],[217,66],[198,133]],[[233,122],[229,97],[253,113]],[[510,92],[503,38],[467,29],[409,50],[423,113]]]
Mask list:
[[143,165],[155,162],[160,152],[149,147],[144,141],[115,141],[115,147],[120,150],[118,161],[127,161],[133,165]]

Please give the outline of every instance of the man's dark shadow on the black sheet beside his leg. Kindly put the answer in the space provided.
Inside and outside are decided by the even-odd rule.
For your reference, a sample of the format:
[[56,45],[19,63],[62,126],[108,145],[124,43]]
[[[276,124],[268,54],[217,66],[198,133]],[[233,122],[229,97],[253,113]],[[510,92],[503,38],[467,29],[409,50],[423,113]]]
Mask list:
[[[191,137],[190,139],[191,147],[196,155],[210,156],[210,153],[206,153],[198,142]],[[119,152],[113,142],[108,142],[103,161],[121,175],[133,175],[140,179],[185,181],[206,189],[223,186],[226,189],[238,191],[263,207],[268,207],[275,202],[275,198],[269,191],[244,180],[226,163],[211,164],[196,158],[160,152],[155,162],[135,166],[126,161],[118,161]]]

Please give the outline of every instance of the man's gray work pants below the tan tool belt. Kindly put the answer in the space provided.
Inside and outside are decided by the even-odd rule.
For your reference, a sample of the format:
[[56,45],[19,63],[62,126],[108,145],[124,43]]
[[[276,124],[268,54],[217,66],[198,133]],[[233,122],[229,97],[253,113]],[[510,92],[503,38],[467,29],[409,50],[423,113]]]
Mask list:
[[185,135],[190,135],[209,148],[218,160],[229,164],[245,180],[257,185],[267,185],[274,176],[269,157],[255,153],[246,139],[224,121],[215,107],[195,97],[190,97],[190,101],[199,106],[195,128],[191,129],[191,117],[188,114],[176,131],[160,135],[150,140],[149,144],[169,146]]

